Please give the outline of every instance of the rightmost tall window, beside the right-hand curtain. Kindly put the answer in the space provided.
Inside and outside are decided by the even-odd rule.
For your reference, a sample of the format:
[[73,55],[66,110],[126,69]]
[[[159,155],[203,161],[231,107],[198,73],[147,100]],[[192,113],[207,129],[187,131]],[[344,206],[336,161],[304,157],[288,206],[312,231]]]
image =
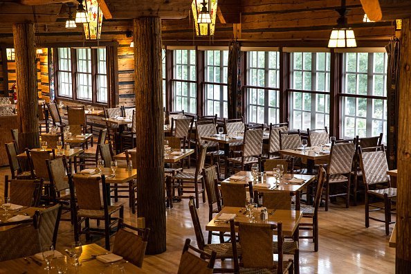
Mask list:
[[343,138],[387,136],[387,54],[345,53]]

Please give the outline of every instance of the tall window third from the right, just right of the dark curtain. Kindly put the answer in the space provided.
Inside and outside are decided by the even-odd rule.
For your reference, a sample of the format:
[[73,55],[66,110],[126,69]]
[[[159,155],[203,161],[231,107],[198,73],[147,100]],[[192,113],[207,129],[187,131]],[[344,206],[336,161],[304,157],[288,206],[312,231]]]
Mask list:
[[280,53],[249,51],[247,53],[246,117],[248,122],[280,122]]

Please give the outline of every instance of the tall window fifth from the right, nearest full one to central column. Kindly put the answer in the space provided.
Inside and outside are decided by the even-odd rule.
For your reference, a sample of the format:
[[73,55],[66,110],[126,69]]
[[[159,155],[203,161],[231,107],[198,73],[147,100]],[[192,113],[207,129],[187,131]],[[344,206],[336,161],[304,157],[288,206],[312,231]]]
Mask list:
[[173,110],[197,113],[196,51],[173,51]]

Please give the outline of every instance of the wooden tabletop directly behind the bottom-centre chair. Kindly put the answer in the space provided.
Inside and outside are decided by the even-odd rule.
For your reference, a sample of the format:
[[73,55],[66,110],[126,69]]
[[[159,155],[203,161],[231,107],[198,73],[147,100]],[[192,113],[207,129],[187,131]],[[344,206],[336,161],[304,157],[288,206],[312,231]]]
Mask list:
[[[272,210],[267,209],[268,220],[260,221],[258,218],[255,219],[256,223],[272,223],[277,224],[279,221],[282,222],[282,231],[285,237],[293,237],[298,240],[298,225],[302,219],[302,212],[299,210]],[[206,225],[206,230],[208,231],[219,231],[219,232],[230,232],[230,223],[216,221],[219,216],[223,213],[235,214],[234,221],[248,223],[250,220],[244,214],[246,208],[237,208],[225,206],[221,211],[215,215],[212,220]],[[237,230],[237,228],[236,228]]]

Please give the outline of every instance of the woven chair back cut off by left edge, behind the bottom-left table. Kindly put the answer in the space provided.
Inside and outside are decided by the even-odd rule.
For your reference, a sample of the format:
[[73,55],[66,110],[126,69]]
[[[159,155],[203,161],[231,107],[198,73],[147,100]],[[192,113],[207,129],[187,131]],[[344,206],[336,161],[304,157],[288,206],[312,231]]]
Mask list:
[[39,231],[34,226],[18,226],[0,231],[0,262],[41,252]]

